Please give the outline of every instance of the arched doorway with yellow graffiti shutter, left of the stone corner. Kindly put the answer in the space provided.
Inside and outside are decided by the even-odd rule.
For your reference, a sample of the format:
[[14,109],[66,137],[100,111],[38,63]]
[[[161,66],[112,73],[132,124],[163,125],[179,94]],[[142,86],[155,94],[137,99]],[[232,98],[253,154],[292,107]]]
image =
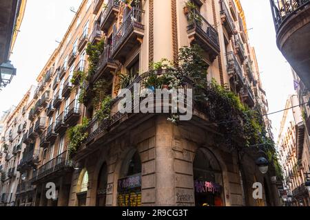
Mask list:
[[118,206],[141,206],[141,168],[138,152],[130,152],[123,162],[118,179]]

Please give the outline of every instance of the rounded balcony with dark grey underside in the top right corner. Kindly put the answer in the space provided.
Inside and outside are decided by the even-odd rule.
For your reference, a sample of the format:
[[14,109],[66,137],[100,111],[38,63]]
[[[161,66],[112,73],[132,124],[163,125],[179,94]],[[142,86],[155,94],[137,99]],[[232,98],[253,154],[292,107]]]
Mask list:
[[279,50],[310,89],[310,0],[270,0]]

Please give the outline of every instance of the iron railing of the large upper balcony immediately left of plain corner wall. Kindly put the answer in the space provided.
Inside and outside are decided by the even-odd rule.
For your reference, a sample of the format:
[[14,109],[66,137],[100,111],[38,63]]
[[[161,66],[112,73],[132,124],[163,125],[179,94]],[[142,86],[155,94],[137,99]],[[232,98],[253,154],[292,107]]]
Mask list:
[[113,34],[112,53],[118,50],[121,43],[123,43],[127,36],[133,32],[134,28],[144,29],[143,14],[144,11],[138,8],[132,8],[132,10],[127,14],[127,17],[125,17],[121,26],[118,28],[116,33]]

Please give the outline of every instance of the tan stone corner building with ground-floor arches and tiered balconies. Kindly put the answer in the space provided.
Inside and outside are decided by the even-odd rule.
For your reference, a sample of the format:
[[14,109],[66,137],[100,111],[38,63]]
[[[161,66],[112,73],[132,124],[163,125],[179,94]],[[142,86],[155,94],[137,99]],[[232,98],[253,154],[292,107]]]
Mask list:
[[[262,175],[250,154],[240,158],[218,144],[221,134],[202,111],[194,109],[192,120],[176,126],[169,115],[121,114],[112,106],[111,122],[99,124],[94,108],[79,103],[81,90],[72,85],[72,76],[89,67],[87,43],[104,38],[105,50],[90,82],[112,80],[113,98],[118,73],[147,72],[162,58],[177,61],[181,47],[196,43],[204,51],[208,80],[230,85],[244,104],[267,113],[239,1],[192,1],[196,19],[190,23],[185,1],[136,2],[81,3],[39,74],[36,91],[24,102],[28,123],[19,133],[22,156],[15,158],[21,178],[1,184],[1,192],[14,193],[16,206],[278,206],[273,170]],[[89,136],[72,162],[66,131],[83,117],[91,120]],[[270,128],[268,118],[264,121]],[[263,199],[254,200],[252,185],[258,181]],[[56,185],[56,199],[45,196],[48,183]]]

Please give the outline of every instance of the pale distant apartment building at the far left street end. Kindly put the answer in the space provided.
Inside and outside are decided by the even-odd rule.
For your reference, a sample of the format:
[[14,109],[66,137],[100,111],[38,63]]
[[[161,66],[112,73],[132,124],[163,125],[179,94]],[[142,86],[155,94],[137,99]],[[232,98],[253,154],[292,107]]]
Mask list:
[[21,179],[18,170],[19,161],[25,144],[23,134],[28,129],[28,104],[32,100],[33,87],[23,96],[17,107],[12,109],[3,120],[4,129],[1,137],[1,205],[14,206],[19,181]]

